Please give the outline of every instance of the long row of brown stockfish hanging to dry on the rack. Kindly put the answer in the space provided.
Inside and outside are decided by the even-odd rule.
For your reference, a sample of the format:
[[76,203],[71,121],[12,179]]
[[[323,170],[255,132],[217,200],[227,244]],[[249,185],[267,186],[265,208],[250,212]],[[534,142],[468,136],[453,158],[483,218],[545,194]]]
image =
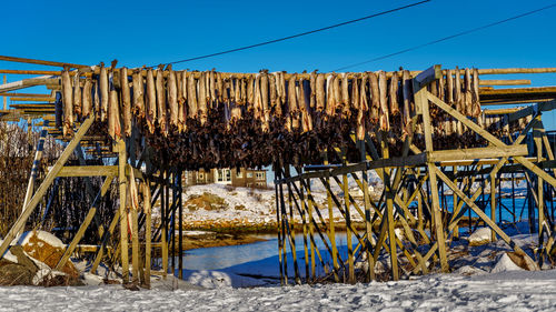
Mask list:
[[[324,149],[353,144],[354,133],[386,138],[393,155],[407,135],[423,145],[421,124],[410,129],[416,112],[407,70],[221,73],[101,63],[87,76],[66,68],[61,84],[64,135],[90,114],[95,131],[115,140],[137,125],[160,151],[155,158],[187,169],[257,167],[280,157],[320,163]],[[502,120],[481,114],[477,69],[447,70],[429,91],[481,127],[502,131]],[[431,117],[438,149],[484,143],[444,111],[433,108]]]

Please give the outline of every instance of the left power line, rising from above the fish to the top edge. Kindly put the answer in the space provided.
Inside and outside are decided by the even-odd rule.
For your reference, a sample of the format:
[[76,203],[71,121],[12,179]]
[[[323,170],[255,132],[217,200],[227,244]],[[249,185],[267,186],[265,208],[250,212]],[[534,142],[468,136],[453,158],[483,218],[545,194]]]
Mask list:
[[411,3],[411,4],[407,4],[407,6],[404,6],[404,7],[395,8],[395,9],[391,9],[391,10],[381,11],[381,12],[378,12],[378,13],[374,13],[374,14],[370,14],[370,16],[358,18],[358,19],[355,19],[355,20],[349,20],[349,21],[337,23],[337,24],[327,26],[327,27],[324,27],[324,28],[319,28],[319,29],[315,29],[315,30],[310,30],[310,31],[306,31],[306,32],[300,32],[300,33],[297,33],[297,34],[292,34],[292,36],[288,36],[288,37],[284,37],[284,38],[279,38],[279,39],[274,39],[274,40],[269,40],[269,41],[265,41],[265,42],[260,42],[260,43],[245,46],[245,47],[241,47],[241,48],[236,48],[236,49],[225,50],[225,51],[220,51],[220,52],[216,52],[216,53],[210,53],[210,54],[206,54],[206,56],[199,56],[199,57],[189,58],[189,59],[185,59],[185,60],[173,61],[173,62],[169,62],[167,64],[177,64],[177,63],[190,62],[190,61],[195,61],[195,60],[212,58],[212,57],[217,57],[217,56],[221,56],[221,54],[238,52],[238,51],[242,51],[242,50],[247,50],[247,49],[252,49],[252,48],[257,48],[257,47],[261,47],[261,46],[267,46],[267,44],[271,44],[271,43],[276,43],[276,42],[280,42],[280,41],[286,41],[286,40],[289,40],[289,39],[294,39],[294,38],[307,36],[307,34],[311,34],[311,33],[316,33],[316,32],[320,32],[320,31],[325,31],[325,30],[329,30],[329,29],[332,29],[332,28],[338,28],[338,27],[341,27],[341,26],[346,26],[346,24],[359,22],[359,21],[363,21],[363,20],[376,18],[376,17],[379,17],[379,16],[385,16],[385,14],[388,14],[388,13],[393,13],[393,12],[396,12],[396,11],[400,11],[400,10],[404,10],[404,9],[416,7],[416,6],[419,6],[419,4],[423,4],[423,3],[426,3],[426,2],[430,2],[430,1],[431,0],[424,0],[424,1]]

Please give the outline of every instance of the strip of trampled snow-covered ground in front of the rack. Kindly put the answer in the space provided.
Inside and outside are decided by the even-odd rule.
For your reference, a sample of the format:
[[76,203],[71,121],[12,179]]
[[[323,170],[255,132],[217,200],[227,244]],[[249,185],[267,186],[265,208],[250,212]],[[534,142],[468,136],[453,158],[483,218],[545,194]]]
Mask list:
[[369,284],[128,291],[0,288],[1,311],[555,311],[556,271],[436,274]]

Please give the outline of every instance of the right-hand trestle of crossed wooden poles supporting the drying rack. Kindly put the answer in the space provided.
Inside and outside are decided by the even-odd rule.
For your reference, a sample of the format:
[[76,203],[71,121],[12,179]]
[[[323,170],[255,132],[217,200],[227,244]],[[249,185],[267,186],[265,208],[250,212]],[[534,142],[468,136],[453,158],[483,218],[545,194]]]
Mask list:
[[[340,281],[342,278],[345,282],[355,283],[358,280],[355,274],[355,262],[361,259],[367,262],[368,268],[365,280],[376,280],[376,262],[379,255],[385,253],[390,260],[389,274],[393,280],[400,279],[403,273],[426,274],[433,270],[447,272],[450,242],[459,238],[461,223],[467,223],[470,231],[473,219],[475,224],[480,222],[492,229],[493,241],[502,239],[516,253],[529,256],[505,233],[500,228],[502,224],[497,223],[497,211],[502,218],[499,185],[500,181],[507,180],[503,174],[512,174],[513,187],[516,173],[528,181],[532,232],[535,231],[533,224],[535,213],[537,215],[537,260],[542,264],[546,258],[554,259],[556,254],[554,205],[550,204],[550,212],[547,203],[552,203],[553,188],[556,185],[555,162],[554,151],[540,117],[543,112],[554,110],[556,101],[554,99],[540,101],[524,109],[493,110],[490,113],[504,115],[503,122],[506,125],[524,117],[530,120],[520,133],[510,133],[508,138],[499,139],[477,124],[476,120],[463,115],[427,90],[427,85],[441,76],[440,68],[436,66],[414,79],[414,90],[418,90],[415,95],[417,114],[411,123],[414,129],[418,122],[423,124],[426,142],[424,151],[414,145],[413,138],[408,137],[405,139],[403,157],[390,158],[388,144],[385,143],[386,133],[378,133],[379,138],[380,135],[384,138],[378,140],[379,147],[375,145],[369,135],[365,140],[357,140],[354,135],[354,143],[361,155],[361,161],[357,163],[328,167],[325,162],[325,165],[309,165],[305,170],[299,168],[296,175],[289,174],[290,164],[275,163],[276,193],[277,198],[281,199],[277,202],[277,222],[280,227],[279,265],[282,284],[288,284],[287,253],[292,254],[296,283],[300,283],[302,278],[307,282],[317,281],[316,263],[324,268],[325,275],[330,279]],[[530,99],[515,102],[527,101]],[[487,144],[473,149],[435,150],[433,148],[435,138],[430,130],[430,107],[447,112],[476,135],[484,138]],[[529,149],[526,141],[529,142]],[[533,148],[530,143],[534,143]],[[338,148],[327,152],[342,151]],[[380,200],[376,202],[371,200],[368,189],[370,170],[376,171],[385,185]],[[348,187],[348,179],[357,185],[355,190]],[[330,181],[335,181],[336,189]],[[471,192],[473,184],[479,181],[481,185]],[[326,189],[328,209],[312,198],[314,182]],[[446,203],[444,187],[453,193],[451,207]],[[363,207],[361,201],[355,200],[356,192],[363,193]],[[490,197],[488,203],[490,215],[485,213],[487,204],[479,203],[479,197],[483,195],[484,199],[486,193]],[[515,205],[514,189],[512,195]],[[288,201],[284,200],[285,197]],[[411,204],[415,204],[416,209],[411,209]],[[332,208],[341,213],[342,218],[339,221],[334,219]],[[329,212],[328,220],[321,214],[321,211],[326,210]],[[471,218],[471,212],[475,218]],[[354,213],[364,220],[363,227],[361,224],[356,227],[351,221]],[[467,213],[469,217],[465,220]],[[295,214],[301,220],[305,274],[300,274],[296,256]],[[344,259],[337,248],[335,227],[345,229],[347,234],[347,254],[344,253],[346,254]],[[397,229],[401,235],[396,232]],[[329,261],[331,263],[324,261],[322,250],[319,251],[315,243],[317,235],[324,242],[324,251],[331,258]],[[438,269],[435,269],[436,263],[439,264]],[[405,266],[404,270],[400,269],[401,265]]]

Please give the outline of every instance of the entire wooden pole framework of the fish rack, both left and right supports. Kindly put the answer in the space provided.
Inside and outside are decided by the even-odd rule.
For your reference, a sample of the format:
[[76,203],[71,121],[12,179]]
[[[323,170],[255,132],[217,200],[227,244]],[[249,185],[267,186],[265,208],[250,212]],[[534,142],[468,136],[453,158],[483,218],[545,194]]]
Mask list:
[[[0,57],[0,60],[18,61],[27,63],[42,63],[48,66],[66,66],[79,68],[85,76],[95,74],[93,69],[79,64],[62,64],[58,62],[43,62],[27,59],[9,59]],[[105,177],[103,184],[91,205],[85,222],[77,231],[73,240],[68,245],[66,253],[57,268],[62,268],[69,256],[78,246],[85,231],[95,220],[99,200],[106,195],[110,184],[118,181],[119,208],[115,211],[113,219],[103,229],[98,227],[97,255],[91,271],[96,271],[107,254],[119,259],[123,282],[150,283],[151,274],[151,250],[155,245],[160,246],[162,263],[161,274],[166,275],[169,270],[181,278],[182,259],[175,254],[182,254],[182,209],[181,209],[181,172],[180,168],[152,163],[155,152],[137,127],[133,127],[129,138],[111,141],[106,137],[87,135],[95,123],[92,117],[76,123],[76,131],[71,137],[61,135],[61,127],[50,127],[47,121],[56,121],[54,112],[59,109],[57,104],[61,101],[60,95],[60,71],[7,71],[0,73],[26,73],[26,74],[52,74],[52,77],[40,77],[22,80],[20,82],[4,83],[0,85],[0,95],[11,97],[18,101],[47,101],[41,104],[12,104],[12,109],[0,111],[0,120],[13,121],[19,118],[40,118],[44,120],[43,127],[60,140],[70,140],[66,150],[50,169],[42,183],[31,192],[29,200],[22,210],[22,214],[16,221],[6,240],[0,245],[0,254],[3,254],[9,242],[17,233],[24,229],[26,221],[37,207],[38,202],[47,193],[48,188],[56,178],[62,177]],[[535,73],[556,72],[556,69],[498,69],[478,70],[479,74],[490,73]],[[490,112],[484,111],[483,117],[495,114],[500,118],[502,127],[527,117],[530,120],[520,133],[509,133],[508,138],[499,138],[492,134],[481,127],[480,120],[469,119],[461,114],[441,99],[436,97],[427,88],[435,81],[443,79],[446,74],[439,66],[431,67],[423,72],[411,72],[413,90],[415,98],[416,114],[411,118],[413,131],[404,139],[401,155],[390,157],[388,138],[384,132],[366,133],[365,139],[351,135],[353,144],[349,147],[337,147],[320,151],[322,153],[322,165],[296,167],[296,174],[290,170],[290,160],[277,158],[272,164],[276,173],[276,211],[278,231],[278,249],[280,259],[281,282],[288,283],[288,245],[292,253],[295,268],[295,282],[302,282],[299,261],[296,251],[296,223],[295,215],[299,215],[302,227],[304,252],[305,252],[305,280],[316,281],[316,266],[319,263],[325,272],[330,274],[335,281],[344,279],[347,282],[356,282],[356,262],[366,259],[369,268],[366,280],[375,280],[375,265],[381,254],[389,254],[389,272],[391,279],[400,278],[400,272],[427,273],[435,270],[435,263],[439,263],[441,271],[449,270],[448,251],[451,240],[459,236],[459,227],[465,220],[466,213],[471,211],[477,220],[493,229],[493,240],[500,238],[507,242],[517,253],[526,253],[500,229],[496,220],[497,192],[494,185],[498,185],[506,173],[522,173],[530,183],[529,189],[535,189],[532,195],[538,211],[539,229],[539,253],[544,256],[553,256],[555,253],[554,220],[545,218],[547,209],[545,202],[552,199],[553,191],[547,194],[546,185],[556,188],[554,178],[554,152],[548,142],[540,120],[542,112],[556,108],[553,92],[556,88],[519,89],[520,92],[497,91],[493,89],[481,90],[485,95],[484,104],[506,104],[538,102],[524,109],[495,109]],[[459,74],[459,72],[457,72]],[[232,76],[232,74],[231,74]],[[528,84],[529,80],[481,80],[481,85],[515,85]],[[52,90],[51,94],[10,93],[11,91],[33,87],[46,85]],[[527,90],[526,90],[527,89]],[[530,90],[529,90],[530,89]],[[481,99],[483,101],[483,99]],[[480,148],[459,150],[435,150],[435,135],[431,131],[430,109],[441,110],[457,120],[460,127],[468,129],[475,135],[480,137],[487,144]],[[414,144],[416,129],[423,129],[425,150]],[[526,142],[527,133],[532,132],[533,148]],[[373,134],[373,135],[371,135]],[[373,137],[373,138],[371,138]],[[378,142],[378,144],[377,144]],[[69,167],[67,161],[75,152],[85,153],[89,157],[100,159],[118,159],[115,165],[85,165]],[[354,149],[355,147],[355,149]],[[355,152],[360,155],[359,162],[349,162],[348,153]],[[339,164],[328,163],[328,159],[341,159]],[[83,159],[81,155],[80,159]],[[369,171],[374,170],[383,181],[385,188],[380,200],[373,201],[369,194]],[[488,179],[484,179],[487,175]],[[525,179],[525,178],[524,178]],[[32,180],[32,179],[31,179]],[[311,193],[312,181],[318,181],[327,191],[326,207],[317,203]],[[357,202],[349,184],[355,182],[363,192],[363,204]],[[483,184],[470,193],[471,187],[477,181]],[[30,189],[32,188],[30,181]],[[485,195],[489,184],[490,215],[486,215],[484,209],[477,204],[479,195]],[[448,209],[444,202],[445,193],[440,189],[447,187],[453,192],[454,208]],[[341,190],[336,192],[335,190]],[[498,194],[499,199],[499,194]],[[413,209],[416,203],[416,209]],[[152,208],[160,208],[160,220],[152,222]],[[142,209],[141,209],[142,208]],[[346,229],[347,256],[344,258],[336,241],[336,228],[339,225],[334,218],[334,210],[341,213],[340,222]],[[321,211],[328,212],[328,220]],[[498,210],[499,211],[499,210]],[[353,222],[354,215],[364,220],[363,230]],[[470,214],[469,214],[470,215]],[[554,215],[554,212],[553,212]],[[470,228],[471,218],[467,218]],[[157,224],[158,223],[158,224]],[[156,224],[156,228],[151,227]],[[116,245],[108,248],[109,238],[115,235],[119,225],[119,240]],[[178,229],[176,229],[178,225]],[[397,234],[397,229],[404,233],[405,239]],[[178,230],[178,236],[173,233]],[[142,242],[140,236],[142,234]],[[315,239],[317,235],[324,242],[326,250],[319,250]],[[178,241],[177,241],[178,240]],[[129,242],[131,241],[131,242]],[[354,246],[355,242],[355,246]],[[131,248],[129,246],[131,245]],[[131,252],[131,278],[129,275],[129,254]],[[325,263],[324,252],[331,258],[331,264]],[[172,255],[169,259],[169,255]],[[401,260],[403,259],[403,260]],[[170,268],[169,268],[170,266]],[[403,266],[403,268],[401,268]]]

